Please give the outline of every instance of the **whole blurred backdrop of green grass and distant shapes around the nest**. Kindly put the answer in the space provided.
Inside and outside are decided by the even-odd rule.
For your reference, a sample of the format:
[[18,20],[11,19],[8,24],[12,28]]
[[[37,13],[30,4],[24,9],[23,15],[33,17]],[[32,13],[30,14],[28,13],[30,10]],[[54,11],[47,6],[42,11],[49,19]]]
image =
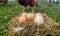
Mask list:
[[[3,1],[0,0],[0,36],[7,36],[7,29],[4,29],[4,27],[9,25],[8,21],[22,12],[23,6],[18,4],[17,0]],[[45,13],[56,23],[60,24],[60,0],[38,0],[37,2],[35,6],[36,12]],[[31,12],[29,6],[27,11]]]

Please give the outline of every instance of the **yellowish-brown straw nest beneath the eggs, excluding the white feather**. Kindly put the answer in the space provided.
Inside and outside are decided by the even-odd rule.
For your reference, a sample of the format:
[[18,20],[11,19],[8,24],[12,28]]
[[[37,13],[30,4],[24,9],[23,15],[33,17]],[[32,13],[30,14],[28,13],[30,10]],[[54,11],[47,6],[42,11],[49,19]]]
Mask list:
[[[57,36],[59,35],[57,27],[58,24],[55,23],[52,19],[48,18],[46,14],[42,14],[45,23],[43,26],[37,26],[33,21],[28,21],[24,25],[21,25],[17,22],[16,18],[10,21],[9,25],[9,36]],[[23,30],[14,32],[13,28],[18,26],[25,27]],[[60,36],[60,35],[59,35]]]

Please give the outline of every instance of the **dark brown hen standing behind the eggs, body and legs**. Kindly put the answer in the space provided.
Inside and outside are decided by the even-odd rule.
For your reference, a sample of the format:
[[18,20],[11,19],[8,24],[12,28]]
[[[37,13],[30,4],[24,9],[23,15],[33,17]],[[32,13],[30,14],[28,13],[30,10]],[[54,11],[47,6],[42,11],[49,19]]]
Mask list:
[[32,8],[32,12],[34,12],[34,6],[37,4],[37,0],[18,0],[18,3],[24,6],[23,11],[26,11],[27,6],[29,5]]

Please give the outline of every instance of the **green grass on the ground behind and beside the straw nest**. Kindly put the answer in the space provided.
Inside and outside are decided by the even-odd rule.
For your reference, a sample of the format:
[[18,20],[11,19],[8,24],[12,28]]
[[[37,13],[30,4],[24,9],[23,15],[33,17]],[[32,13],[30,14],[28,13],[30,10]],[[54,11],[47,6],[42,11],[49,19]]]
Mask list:
[[[39,4],[35,7],[35,12],[46,13],[50,18],[60,23],[60,5],[55,5],[49,7],[47,4]],[[5,27],[8,25],[8,21],[19,15],[23,10],[23,6],[19,5],[17,2],[10,2],[7,5],[0,5],[0,27]],[[27,8],[28,12],[31,12],[31,8]],[[6,29],[0,30],[0,36],[5,35]]]

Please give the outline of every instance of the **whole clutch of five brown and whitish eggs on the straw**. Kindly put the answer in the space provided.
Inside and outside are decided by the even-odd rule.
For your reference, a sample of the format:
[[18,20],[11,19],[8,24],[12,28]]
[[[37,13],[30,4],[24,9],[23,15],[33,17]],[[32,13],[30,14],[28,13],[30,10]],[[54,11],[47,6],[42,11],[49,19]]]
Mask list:
[[18,18],[19,23],[25,23],[27,20],[33,20],[37,25],[44,24],[44,18],[41,13],[23,13],[22,16]]

